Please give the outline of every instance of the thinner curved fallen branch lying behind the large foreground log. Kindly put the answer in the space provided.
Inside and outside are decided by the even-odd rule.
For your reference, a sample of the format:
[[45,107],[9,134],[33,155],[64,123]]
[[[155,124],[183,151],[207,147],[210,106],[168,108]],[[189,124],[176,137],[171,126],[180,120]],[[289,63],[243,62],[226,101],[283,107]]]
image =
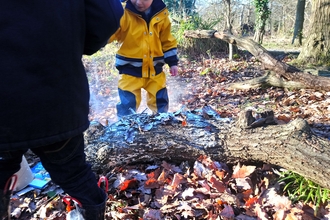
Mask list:
[[[265,69],[273,71],[272,74],[266,74],[263,76],[263,83],[270,84],[271,86],[279,86],[272,79],[267,79],[273,75],[278,76],[278,78],[283,78],[286,83],[280,84],[281,87],[287,88],[305,88],[305,89],[315,89],[322,91],[330,91],[330,78],[323,76],[315,76],[309,73],[304,73],[298,68],[281,62],[275,59],[264,47],[256,43],[255,41],[235,37],[231,34],[221,33],[216,30],[194,30],[194,31],[185,31],[184,36],[187,38],[218,38],[233,45],[239,46],[241,48],[249,51],[253,56],[255,56],[263,64]],[[233,84],[233,88],[247,88],[248,84],[252,84],[253,87],[254,81],[245,81],[244,85],[240,87],[240,83]]]

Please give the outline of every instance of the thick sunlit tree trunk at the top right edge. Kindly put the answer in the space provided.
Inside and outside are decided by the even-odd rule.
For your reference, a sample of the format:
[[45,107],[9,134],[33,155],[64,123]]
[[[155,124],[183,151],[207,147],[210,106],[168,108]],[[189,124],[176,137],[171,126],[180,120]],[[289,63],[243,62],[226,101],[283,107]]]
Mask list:
[[298,60],[329,65],[330,0],[312,1],[312,22]]

